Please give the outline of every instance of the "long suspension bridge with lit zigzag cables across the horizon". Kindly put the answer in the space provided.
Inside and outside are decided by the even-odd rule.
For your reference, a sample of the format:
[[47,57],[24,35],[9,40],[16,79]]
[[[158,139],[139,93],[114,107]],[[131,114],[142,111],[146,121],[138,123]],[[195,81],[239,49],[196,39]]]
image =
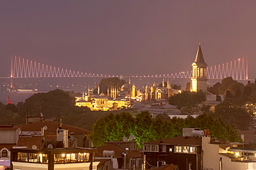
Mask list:
[[[237,59],[225,64],[217,66],[210,66],[206,70],[208,79],[223,79],[225,77],[232,77],[237,80],[248,79],[248,59]],[[68,70],[64,68],[57,68],[46,64],[40,64],[21,57],[14,57],[11,59],[11,69],[9,78],[25,78],[25,77],[152,77],[152,78],[170,78],[188,79],[192,76],[192,70],[179,73],[169,73],[162,75],[106,75],[86,73],[75,70]]]

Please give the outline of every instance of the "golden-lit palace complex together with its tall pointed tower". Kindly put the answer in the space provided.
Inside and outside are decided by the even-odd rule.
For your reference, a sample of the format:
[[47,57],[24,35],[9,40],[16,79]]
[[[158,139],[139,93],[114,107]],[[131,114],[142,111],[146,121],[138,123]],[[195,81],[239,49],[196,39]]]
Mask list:
[[[207,91],[207,64],[203,59],[203,53],[201,45],[196,53],[196,57],[192,64],[192,77],[191,77],[191,91]],[[130,82],[130,81],[129,81]],[[88,88],[88,92],[81,97],[76,98],[76,106],[87,106],[91,111],[117,111],[120,108],[128,108],[132,102],[156,102],[166,101],[174,94],[181,93],[172,89],[169,79],[165,82],[163,79],[161,86],[156,86],[154,83],[152,86],[145,86],[144,88],[136,89],[136,86],[131,83],[125,83],[121,88],[112,86],[107,88],[107,94],[100,93],[100,85],[94,87],[98,91],[98,94],[93,95],[91,88]],[[187,89],[189,90],[189,89]]]

